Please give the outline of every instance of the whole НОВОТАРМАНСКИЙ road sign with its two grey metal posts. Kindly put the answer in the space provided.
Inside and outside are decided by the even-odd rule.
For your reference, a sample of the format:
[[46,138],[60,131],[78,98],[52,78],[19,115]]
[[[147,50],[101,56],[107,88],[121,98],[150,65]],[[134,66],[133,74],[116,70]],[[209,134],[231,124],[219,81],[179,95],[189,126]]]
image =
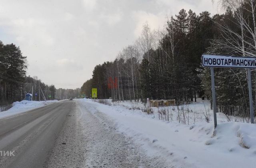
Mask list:
[[216,68],[246,68],[248,71],[248,89],[250,99],[250,118],[251,123],[254,123],[254,110],[252,100],[252,77],[251,69],[256,69],[256,58],[241,57],[241,56],[216,56],[216,55],[202,55],[202,66],[211,68],[212,78],[212,103],[214,112],[214,128],[217,126],[216,118],[216,94],[214,83],[214,67]]

